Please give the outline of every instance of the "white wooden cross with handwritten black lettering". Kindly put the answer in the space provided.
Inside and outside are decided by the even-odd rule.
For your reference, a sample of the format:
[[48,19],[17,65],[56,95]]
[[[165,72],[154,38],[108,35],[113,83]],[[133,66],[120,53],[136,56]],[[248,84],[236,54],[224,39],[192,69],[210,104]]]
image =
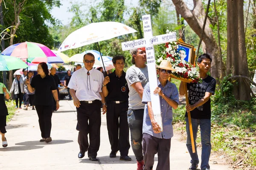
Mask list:
[[158,125],[160,125],[162,129],[161,131],[163,131],[159,95],[153,93],[153,91],[158,87],[157,71],[156,71],[156,64],[155,64],[156,62],[155,62],[153,45],[176,41],[176,33],[174,32],[171,34],[163,34],[163,35],[158,35],[153,37],[150,15],[149,14],[143,15],[142,20],[143,20],[144,38],[139,40],[122,42],[122,50],[126,51],[134,48],[141,48],[141,47],[146,48],[152,110],[154,113],[154,119],[156,120]]

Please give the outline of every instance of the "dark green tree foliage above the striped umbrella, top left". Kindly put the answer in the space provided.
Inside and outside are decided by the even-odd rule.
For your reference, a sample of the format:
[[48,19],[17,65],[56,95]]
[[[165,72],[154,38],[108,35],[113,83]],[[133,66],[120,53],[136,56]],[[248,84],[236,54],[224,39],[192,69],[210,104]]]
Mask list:
[[[16,0],[20,3],[24,0]],[[15,20],[14,0],[5,1],[6,8],[3,8],[4,27],[12,26]],[[14,44],[18,42],[38,42],[52,48],[54,41],[49,34],[49,25],[58,24],[58,20],[52,17],[50,10],[54,6],[60,6],[59,0],[25,0],[24,6],[20,12],[20,26],[14,38]],[[6,41],[6,47],[9,42]]]

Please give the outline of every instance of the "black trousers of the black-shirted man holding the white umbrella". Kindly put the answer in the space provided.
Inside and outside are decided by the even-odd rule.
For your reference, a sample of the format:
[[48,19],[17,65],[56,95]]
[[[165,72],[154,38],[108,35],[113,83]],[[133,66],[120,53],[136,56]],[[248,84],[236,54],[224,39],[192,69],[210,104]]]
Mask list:
[[123,103],[108,101],[107,106],[107,127],[111,150],[113,152],[120,150],[121,156],[128,155],[130,148],[127,121],[128,101]]

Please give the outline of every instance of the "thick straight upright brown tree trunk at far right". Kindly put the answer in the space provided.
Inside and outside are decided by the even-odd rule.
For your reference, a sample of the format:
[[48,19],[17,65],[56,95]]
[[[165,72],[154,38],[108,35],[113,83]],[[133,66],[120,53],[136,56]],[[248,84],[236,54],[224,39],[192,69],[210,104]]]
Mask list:
[[[243,0],[227,0],[227,74],[249,75],[244,35]],[[233,87],[236,99],[250,100],[250,88],[242,80]]]

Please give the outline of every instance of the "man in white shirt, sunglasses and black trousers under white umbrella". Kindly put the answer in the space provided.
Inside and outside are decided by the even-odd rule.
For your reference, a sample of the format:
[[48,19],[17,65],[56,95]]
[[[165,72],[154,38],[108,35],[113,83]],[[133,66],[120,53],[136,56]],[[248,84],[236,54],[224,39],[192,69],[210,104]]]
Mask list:
[[[107,111],[105,97],[102,93],[104,76],[102,72],[93,68],[95,62],[93,54],[85,54],[83,62],[84,68],[75,71],[68,84],[77,110],[78,143],[80,147],[78,157],[83,158],[84,153],[88,151],[89,160],[98,161],[96,156],[100,144],[101,102],[103,114]],[[88,133],[90,145],[88,143]]]

